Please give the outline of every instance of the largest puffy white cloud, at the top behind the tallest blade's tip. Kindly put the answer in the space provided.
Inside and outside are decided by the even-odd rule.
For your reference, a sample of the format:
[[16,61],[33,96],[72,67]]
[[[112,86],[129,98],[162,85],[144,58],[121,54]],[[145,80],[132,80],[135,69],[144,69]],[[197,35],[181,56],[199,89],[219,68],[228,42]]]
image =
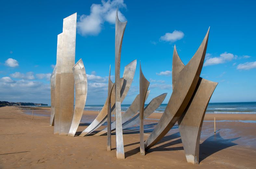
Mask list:
[[[77,22],[78,33],[86,35],[98,35],[101,32],[104,22],[115,23],[116,8],[126,8],[123,0],[101,1],[102,4],[92,4],[90,15],[81,15]],[[120,21],[126,20],[124,15],[118,11]]]

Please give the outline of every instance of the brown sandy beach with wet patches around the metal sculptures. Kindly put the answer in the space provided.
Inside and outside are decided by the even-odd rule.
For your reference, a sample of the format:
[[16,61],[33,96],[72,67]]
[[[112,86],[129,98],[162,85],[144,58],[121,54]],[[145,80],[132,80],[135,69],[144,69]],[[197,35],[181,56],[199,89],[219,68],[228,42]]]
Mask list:
[[[139,152],[139,128],[125,129],[125,160],[117,160],[114,134],[111,152],[106,151],[106,136],[54,135],[53,127],[49,126],[50,110],[42,109],[33,110],[32,120],[32,110],[0,108],[0,168],[256,168],[254,114],[206,114],[200,138],[200,163],[193,165],[186,162],[177,125],[146,156]],[[97,114],[85,111],[78,131],[83,131]],[[160,116],[161,113],[153,113],[148,117],[151,119],[145,120],[145,139]]]

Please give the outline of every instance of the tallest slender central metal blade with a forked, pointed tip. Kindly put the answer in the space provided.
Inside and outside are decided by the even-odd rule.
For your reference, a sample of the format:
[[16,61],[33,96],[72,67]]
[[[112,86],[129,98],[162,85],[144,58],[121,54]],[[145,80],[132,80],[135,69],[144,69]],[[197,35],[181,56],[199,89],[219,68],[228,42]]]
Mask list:
[[126,27],[125,22],[120,22],[116,11],[115,25],[115,106],[116,106],[116,157],[124,159],[122,116],[121,116],[121,94],[120,94],[120,62],[123,34]]

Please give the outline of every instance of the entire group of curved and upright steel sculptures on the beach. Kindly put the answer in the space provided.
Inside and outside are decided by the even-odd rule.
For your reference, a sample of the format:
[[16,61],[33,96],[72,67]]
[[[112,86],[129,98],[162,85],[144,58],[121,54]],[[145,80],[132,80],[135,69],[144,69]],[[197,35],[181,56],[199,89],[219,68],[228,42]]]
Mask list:
[[[63,32],[58,35],[56,66],[51,76],[51,118],[54,134],[75,136],[81,121],[87,96],[87,77],[82,59],[75,64],[77,14],[63,19]],[[199,141],[205,111],[211,95],[217,85],[200,77],[209,30],[195,55],[185,66],[176,47],[173,51],[172,85],[173,93],[166,109],[148,139],[144,141],[144,119],[153,113],[163,102],[166,93],[155,97],[145,107],[149,95],[149,82],[140,66],[139,94],[130,107],[121,114],[121,104],[132,84],[137,61],[124,68],[120,78],[122,39],[127,21],[120,22],[116,13],[115,24],[115,83],[110,79],[106,102],[95,120],[82,131],[81,137],[87,136],[107,121],[107,127],[94,133],[100,136],[107,133],[107,150],[111,151],[111,132],[116,133],[116,156],[124,159],[122,130],[133,125],[140,126],[140,153],[160,141],[178,122],[182,144],[187,162],[199,163]],[[74,106],[75,91],[75,106]],[[139,112],[137,114],[137,112]],[[115,121],[111,123],[111,115]]]

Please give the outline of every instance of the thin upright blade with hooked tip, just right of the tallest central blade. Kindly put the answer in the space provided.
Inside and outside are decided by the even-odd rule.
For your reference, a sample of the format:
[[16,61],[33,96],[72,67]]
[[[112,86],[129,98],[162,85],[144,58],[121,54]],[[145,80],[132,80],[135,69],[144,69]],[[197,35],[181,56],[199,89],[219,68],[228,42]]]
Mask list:
[[149,81],[145,78],[140,64],[140,155],[145,155],[144,147],[144,105]]

